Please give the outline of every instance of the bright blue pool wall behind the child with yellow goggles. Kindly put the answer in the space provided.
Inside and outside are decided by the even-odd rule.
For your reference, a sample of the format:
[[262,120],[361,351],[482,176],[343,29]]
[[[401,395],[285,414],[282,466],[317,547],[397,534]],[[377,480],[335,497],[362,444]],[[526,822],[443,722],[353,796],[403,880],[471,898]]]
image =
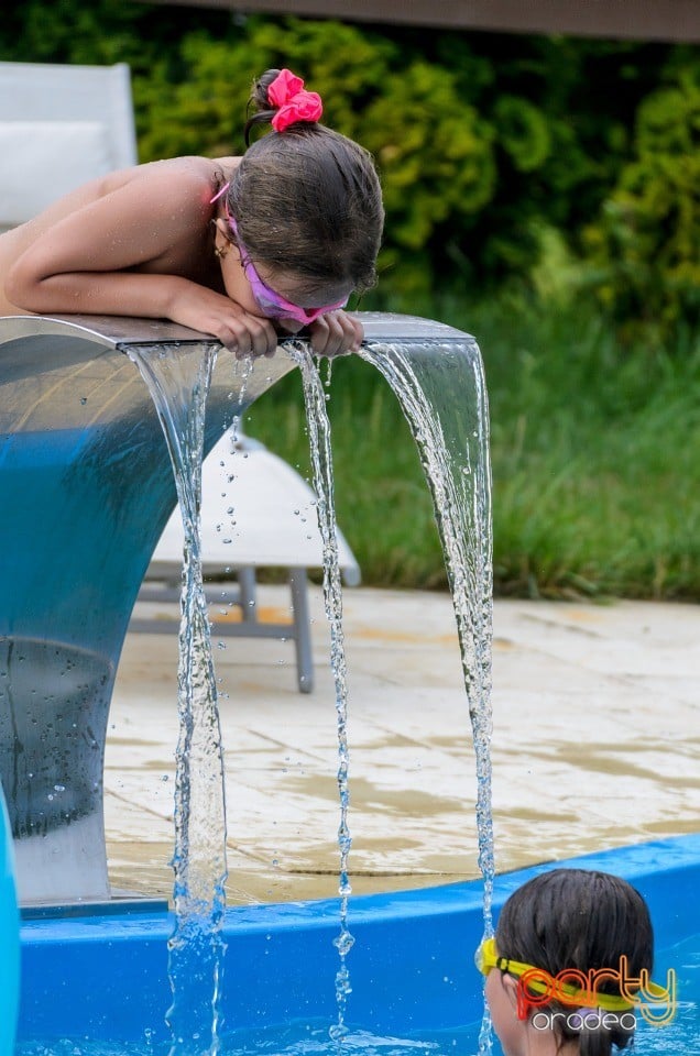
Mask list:
[[[548,862],[496,878],[497,908],[542,869],[601,869],[647,899],[657,967],[674,944],[700,934],[700,835]],[[376,1033],[451,1028],[481,1015],[473,952],[482,934],[480,882],[356,898],[348,957],[349,1018]],[[338,900],[227,911],[222,1014],[227,1030],[289,1020],[332,1021]],[[165,1040],[171,915],[37,919],[22,926],[20,1038]],[[671,961],[664,958],[671,957]]]

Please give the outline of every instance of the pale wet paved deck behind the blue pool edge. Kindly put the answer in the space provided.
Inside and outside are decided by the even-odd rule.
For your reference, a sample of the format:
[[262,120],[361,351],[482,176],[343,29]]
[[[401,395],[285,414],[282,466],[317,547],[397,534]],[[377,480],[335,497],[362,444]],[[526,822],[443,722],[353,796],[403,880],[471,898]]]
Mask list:
[[[283,586],[263,617],[288,615]],[[329,631],[310,588],[315,689],[291,642],[214,632],[226,750],[229,902],[337,893],[338,743]],[[356,893],[475,877],[474,757],[447,595],[344,591]],[[110,713],[116,889],[167,897],[177,743],[168,635],[130,634]],[[219,646],[222,644],[222,647]],[[700,606],[499,601],[496,869],[700,828]]]

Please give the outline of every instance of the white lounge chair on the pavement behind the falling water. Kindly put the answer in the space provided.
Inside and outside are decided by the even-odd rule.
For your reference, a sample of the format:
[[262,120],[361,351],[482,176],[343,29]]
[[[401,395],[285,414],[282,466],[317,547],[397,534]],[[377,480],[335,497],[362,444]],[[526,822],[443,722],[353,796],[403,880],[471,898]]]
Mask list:
[[[183,547],[182,518],[175,509],[153,553],[139,603],[179,597]],[[360,568],[340,531],[338,556],[346,583],[357,585]],[[237,439],[227,433],[203,463],[201,558],[215,637],[293,639],[298,686],[310,693],[314,664],[307,570],[324,563],[316,495],[283,459],[240,431]],[[255,570],[261,568],[287,571],[291,623],[259,618]],[[229,582],[232,578],[237,586]],[[231,607],[237,612],[231,613]],[[239,616],[238,609],[240,618],[234,620],[231,617]],[[144,617],[135,610],[130,630],[172,632],[177,626],[173,618]]]

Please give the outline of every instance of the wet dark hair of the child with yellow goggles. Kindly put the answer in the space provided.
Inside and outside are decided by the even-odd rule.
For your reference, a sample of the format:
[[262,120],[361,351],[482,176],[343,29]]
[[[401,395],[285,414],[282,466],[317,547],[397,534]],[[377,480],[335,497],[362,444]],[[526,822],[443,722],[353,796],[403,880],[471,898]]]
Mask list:
[[[495,942],[500,956],[551,976],[567,968],[584,974],[617,968],[624,955],[630,974],[638,978],[643,968],[650,972],[654,960],[652,921],[639,892],[620,877],[587,869],[554,869],[518,888],[501,911]],[[600,991],[620,993],[612,980],[601,981]],[[553,1028],[560,1044],[578,1037],[581,1056],[610,1056],[613,1045],[625,1048],[634,1038],[634,1027],[621,1022],[608,1027],[602,1016],[591,1027],[573,1030],[571,1005],[551,1001],[546,1008],[566,1013]]]

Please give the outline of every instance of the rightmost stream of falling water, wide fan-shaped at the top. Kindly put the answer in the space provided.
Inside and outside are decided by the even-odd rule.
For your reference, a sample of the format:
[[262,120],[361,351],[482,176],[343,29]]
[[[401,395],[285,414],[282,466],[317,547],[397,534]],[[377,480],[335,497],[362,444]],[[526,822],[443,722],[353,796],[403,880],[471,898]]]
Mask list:
[[[455,606],[477,759],[478,862],[484,935],[493,934],[491,647],[493,573],[489,408],[475,342],[368,343],[363,358],[386,378],[418,448],[433,497]],[[471,396],[471,399],[467,397]],[[479,1052],[492,1050],[484,1004]]]

